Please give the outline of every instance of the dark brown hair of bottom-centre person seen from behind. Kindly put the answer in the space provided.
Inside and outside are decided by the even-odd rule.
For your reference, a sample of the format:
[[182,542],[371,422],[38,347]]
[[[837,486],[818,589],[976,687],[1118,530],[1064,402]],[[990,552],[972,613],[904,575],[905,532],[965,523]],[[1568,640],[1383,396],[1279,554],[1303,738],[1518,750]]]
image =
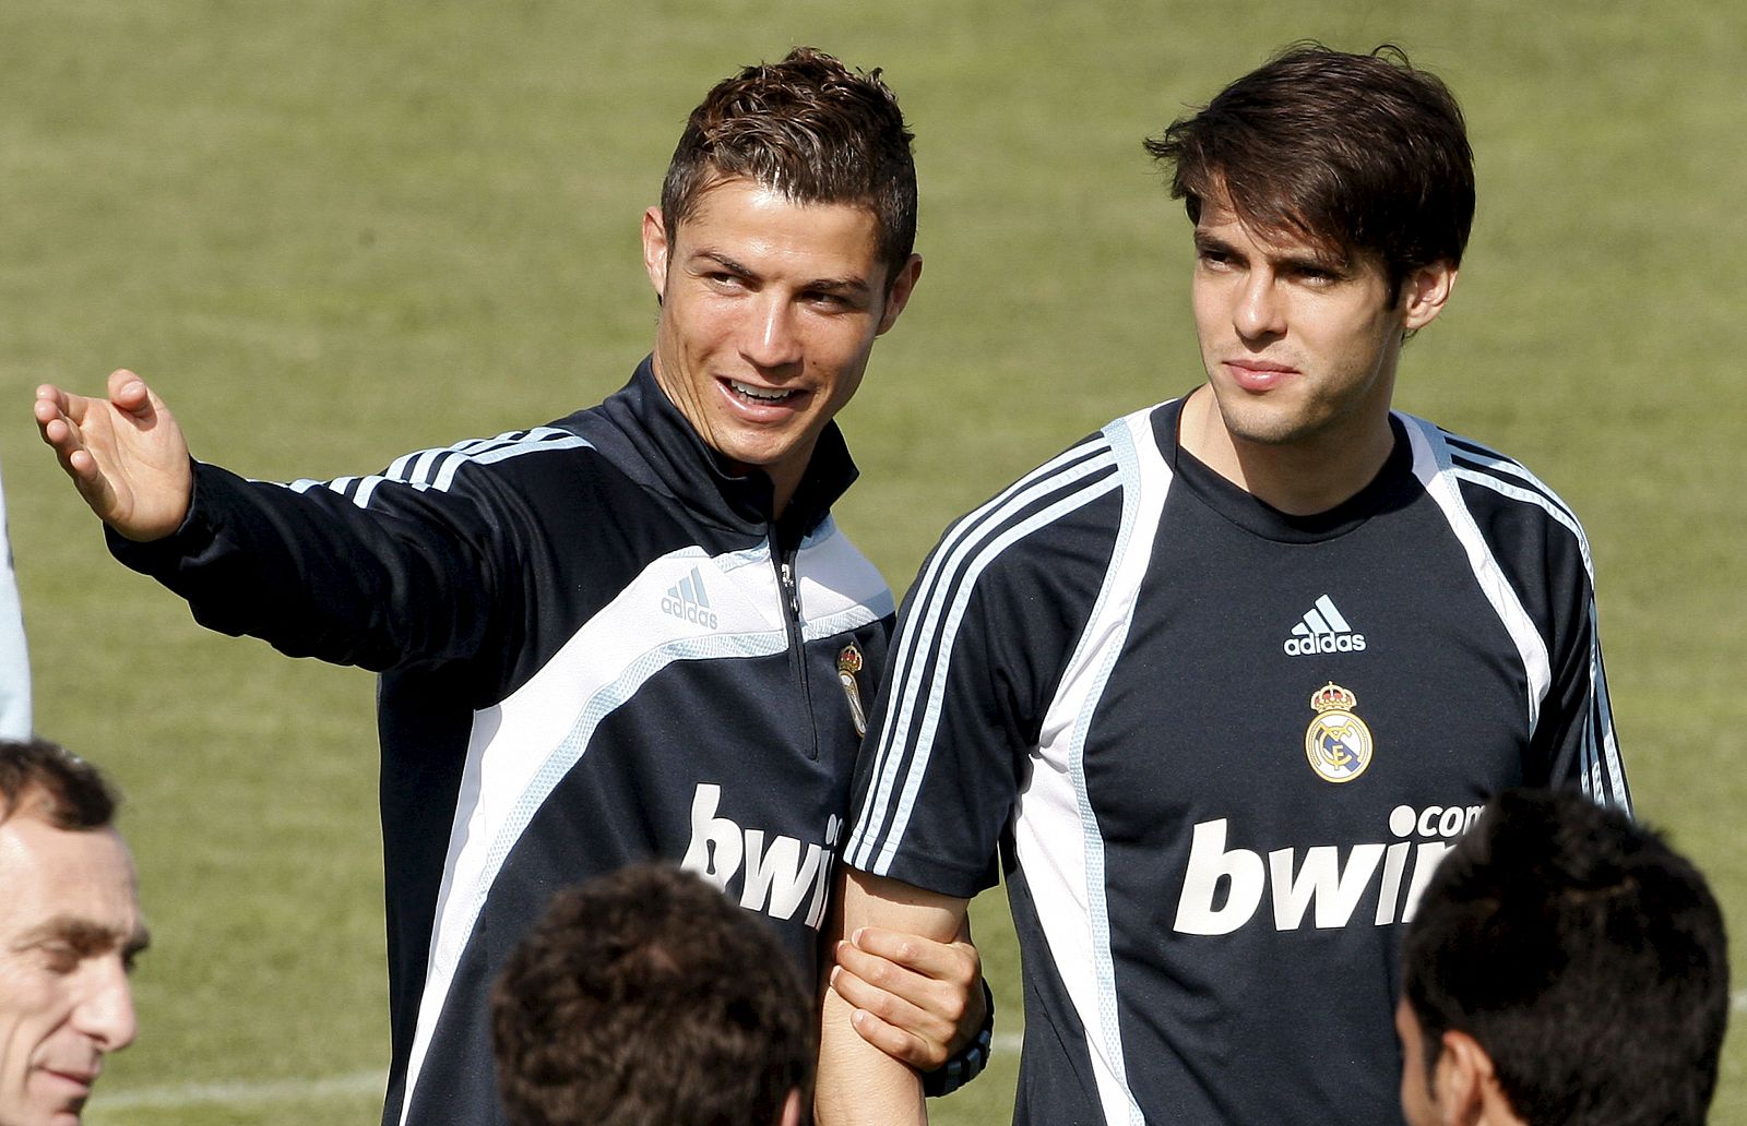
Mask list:
[[676,868],[559,892],[491,993],[515,1126],[776,1123],[814,1035],[793,958]]

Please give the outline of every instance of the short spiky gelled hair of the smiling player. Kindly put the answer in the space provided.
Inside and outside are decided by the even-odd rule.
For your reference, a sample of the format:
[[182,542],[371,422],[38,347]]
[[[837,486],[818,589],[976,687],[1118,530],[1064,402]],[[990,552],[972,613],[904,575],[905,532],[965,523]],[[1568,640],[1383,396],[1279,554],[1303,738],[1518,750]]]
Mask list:
[[744,178],[798,203],[867,206],[891,285],[915,246],[915,162],[898,96],[879,75],[795,47],[781,63],[718,82],[667,164],[660,208],[669,241],[704,192]]

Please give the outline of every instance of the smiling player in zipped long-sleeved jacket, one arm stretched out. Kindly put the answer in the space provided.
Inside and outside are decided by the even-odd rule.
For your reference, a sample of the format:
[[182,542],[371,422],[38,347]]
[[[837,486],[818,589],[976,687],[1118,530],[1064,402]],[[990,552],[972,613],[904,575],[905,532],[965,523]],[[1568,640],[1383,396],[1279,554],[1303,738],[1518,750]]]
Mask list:
[[[896,98],[797,49],[692,112],[643,215],[655,349],[597,407],[274,485],[192,463],[131,372],[38,388],[122,562],[215,630],[383,674],[384,1123],[501,1121],[486,995],[559,887],[669,859],[812,965],[894,611],[830,515],[856,477],[832,419],[914,236]],[[867,1030],[940,1063],[982,1016],[975,951],[886,950],[914,957]]]

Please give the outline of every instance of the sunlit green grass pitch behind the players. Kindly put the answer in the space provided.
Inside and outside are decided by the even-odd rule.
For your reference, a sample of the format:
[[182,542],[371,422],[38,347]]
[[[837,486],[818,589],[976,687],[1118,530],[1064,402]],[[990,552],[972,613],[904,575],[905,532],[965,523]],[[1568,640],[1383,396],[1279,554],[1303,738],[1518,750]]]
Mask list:
[[[1747,9],[10,3],[0,459],[37,724],[128,791],[155,932],[89,1119],[372,1121],[372,679],[206,634],[108,560],[37,443],[37,382],[133,367],[199,457],[264,478],[596,402],[652,340],[638,216],[685,112],[814,42],[884,66],[919,134],[926,271],[844,415],[863,482],[839,510],[901,590],[949,518],[1198,381],[1188,227],[1139,141],[1300,37],[1401,42],[1464,101],[1480,213],[1399,403],[1583,513],[1640,815],[1747,936]],[[1012,1032],[999,899],[978,936]],[[1013,1068],[936,1119],[1005,1121]],[[1716,1119],[1747,1121],[1740,1035]]]

